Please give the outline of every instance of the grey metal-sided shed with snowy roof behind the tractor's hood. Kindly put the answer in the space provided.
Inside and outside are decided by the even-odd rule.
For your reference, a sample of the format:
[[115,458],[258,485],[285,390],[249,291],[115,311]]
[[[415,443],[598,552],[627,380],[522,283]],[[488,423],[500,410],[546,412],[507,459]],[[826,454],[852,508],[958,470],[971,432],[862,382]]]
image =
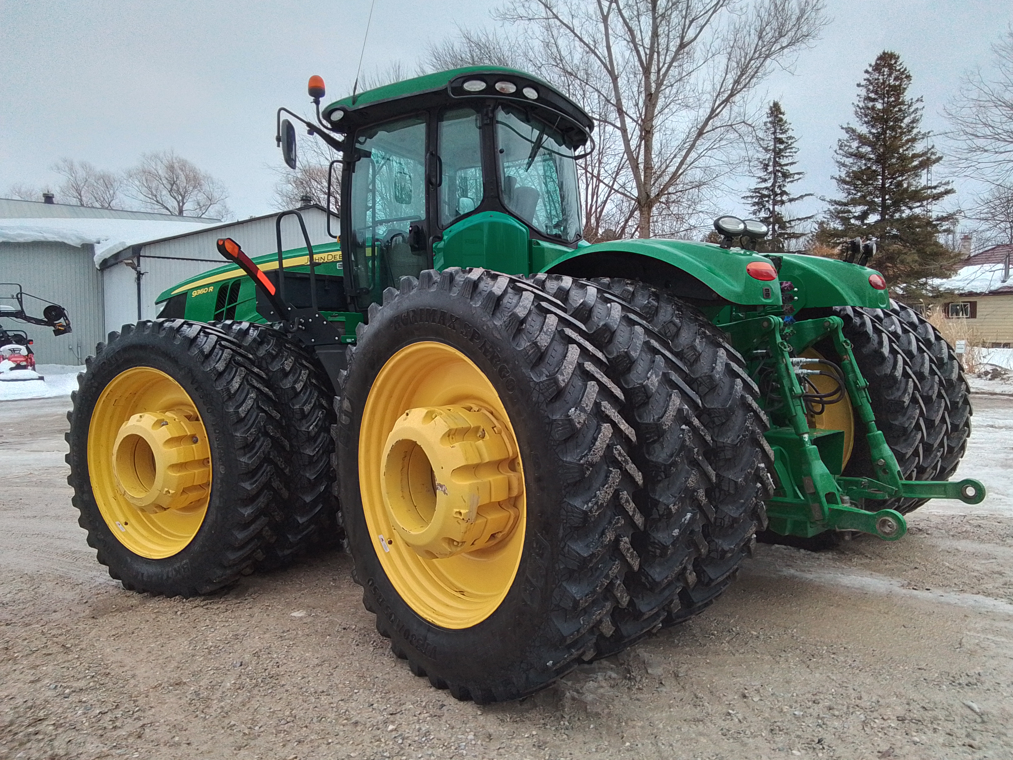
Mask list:
[[[301,212],[313,244],[333,240],[323,207],[309,205]],[[276,219],[269,214],[222,224],[0,199],[0,283],[17,283],[25,292],[64,306],[74,331],[54,336],[45,327],[3,322],[28,332],[40,363],[82,364],[109,331],[155,317],[155,298],[163,290],[221,267],[225,261],[217,252],[218,238],[234,238],[251,256],[274,252]],[[336,222],[332,217],[334,231]],[[285,248],[304,245],[294,218],[283,220],[282,227]],[[11,295],[9,290],[0,286],[0,298]],[[37,304],[40,315],[43,306]]]

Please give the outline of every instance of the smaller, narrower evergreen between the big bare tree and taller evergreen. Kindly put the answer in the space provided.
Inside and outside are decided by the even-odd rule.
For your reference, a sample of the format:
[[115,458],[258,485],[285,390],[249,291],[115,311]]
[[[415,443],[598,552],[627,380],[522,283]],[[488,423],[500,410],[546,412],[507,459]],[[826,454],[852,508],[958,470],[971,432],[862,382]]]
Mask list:
[[805,198],[811,193],[792,196],[789,185],[802,178],[804,172],[792,171],[791,167],[798,163],[795,154],[795,137],[791,134],[791,125],[784,118],[784,109],[777,100],[767,109],[767,119],[758,140],[760,156],[754,165],[753,178],[758,184],[753,187],[743,200],[750,205],[754,216],[770,228],[770,234],[763,241],[761,250],[782,251],[792,240],[797,240],[805,233],[796,229],[799,223],[807,222],[808,217],[786,217],[787,206]]

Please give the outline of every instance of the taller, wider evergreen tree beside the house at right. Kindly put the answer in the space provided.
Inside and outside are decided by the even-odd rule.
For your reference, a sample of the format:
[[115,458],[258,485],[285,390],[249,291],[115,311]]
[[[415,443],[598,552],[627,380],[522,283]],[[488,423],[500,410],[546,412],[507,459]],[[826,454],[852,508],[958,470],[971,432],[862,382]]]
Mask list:
[[958,253],[940,241],[953,216],[934,214],[933,204],[953,193],[948,182],[929,183],[926,172],[942,160],[926,145],[921,98],[909,98],[911,73],[901,57],[883,51],[865,70],[855,103],[857,127],[844,127],[834,177],[841,198],[830,201],[825,242],[854,237],[875,240],[870,265],[891,288],[913,296],[925,281],[945,277]]

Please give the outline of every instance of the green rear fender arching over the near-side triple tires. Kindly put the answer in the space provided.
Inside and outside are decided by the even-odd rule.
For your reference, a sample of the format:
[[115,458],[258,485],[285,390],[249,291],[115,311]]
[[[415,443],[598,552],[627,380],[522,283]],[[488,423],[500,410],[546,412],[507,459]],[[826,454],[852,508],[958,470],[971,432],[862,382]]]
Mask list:
[[754,280],[746,273],[751,261],[769,263],[770,259],[741,248],[690,240],[614,240],[566,251],[540,271],[582,278],[639,280],[681,298],[714,305],[780,304],[778,281]]

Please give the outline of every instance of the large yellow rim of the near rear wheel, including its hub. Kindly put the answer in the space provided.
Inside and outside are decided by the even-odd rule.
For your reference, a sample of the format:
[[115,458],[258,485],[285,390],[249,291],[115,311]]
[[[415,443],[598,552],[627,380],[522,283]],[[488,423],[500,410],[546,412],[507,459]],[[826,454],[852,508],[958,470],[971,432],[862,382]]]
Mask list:
[[384,573],[421,617],[468,628],[502,602],[524,548],[524,470],[506,409],[464,354],[392,356],[359,436],[366,525]]

